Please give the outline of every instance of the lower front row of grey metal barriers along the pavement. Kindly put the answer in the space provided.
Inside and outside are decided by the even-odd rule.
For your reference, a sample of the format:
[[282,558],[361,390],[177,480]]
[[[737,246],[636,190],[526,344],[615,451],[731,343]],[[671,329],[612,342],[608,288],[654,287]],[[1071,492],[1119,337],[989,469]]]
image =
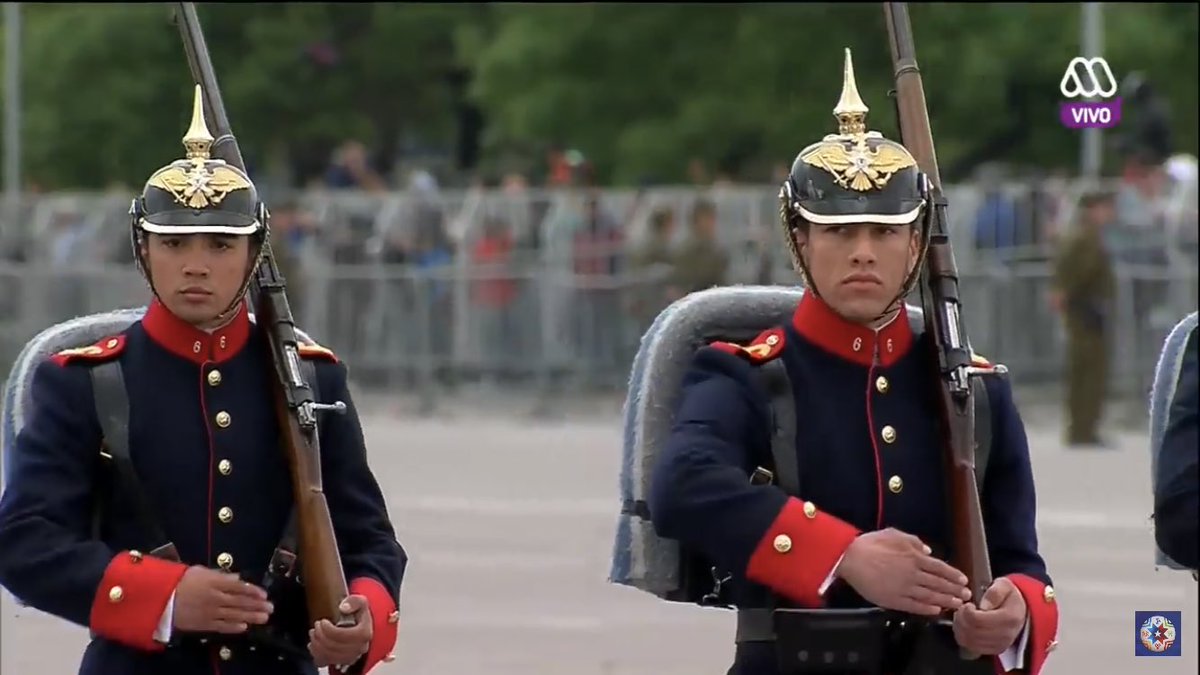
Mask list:
[[[973,347],[1018,386],[1062,380],[1061,319],[1046,263],[961,270]],[[463,386],[552,395],[623,386],[642,331],[670,300],[665,271],[577,275],[546,259],[508,265],[330,265],[302,271],[298,322],[360,386],[422,395]],[[1118,264],[1114,396],[1144,398],[1162,341],[1198,303],[1196,269]],[[132,267],[0,264],[0,364],[47,325],[144,304]]]

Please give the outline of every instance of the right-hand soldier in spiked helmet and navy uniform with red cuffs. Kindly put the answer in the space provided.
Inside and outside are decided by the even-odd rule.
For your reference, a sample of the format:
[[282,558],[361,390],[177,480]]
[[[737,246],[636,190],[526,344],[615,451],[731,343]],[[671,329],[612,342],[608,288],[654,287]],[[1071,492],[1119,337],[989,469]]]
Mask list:
[[[839,133],[799,154],[780,195],[803,299],[790,323],[748,345],[697,351],[654,467],[650,518],[659,536],[728,572],[739,609],[731,675],[784,670],[769,611],[766,626],[751,622],[763,608],[953,611],[960,646],[994,656],[997,671],[1037,675],[1058,610],[1025,429],[1009,384],[986,375],[994,443],[982,506],[995,583],[974,607],[944,562],[935,369],[902,301],[922,262],[928,193],[912,155],[866,132],[848,49]],[[775,419],[757,370],[774,359],[793,392],[797,494],[755,479],[772,466]]]

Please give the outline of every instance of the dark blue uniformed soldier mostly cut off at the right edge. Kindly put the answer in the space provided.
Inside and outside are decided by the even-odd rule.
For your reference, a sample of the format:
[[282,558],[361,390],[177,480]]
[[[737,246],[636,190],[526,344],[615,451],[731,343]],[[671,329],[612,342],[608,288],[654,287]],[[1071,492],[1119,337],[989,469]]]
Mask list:
[[1154,490],[1154,542],[1175,562],[1195,571],[1200,567],[1200,330],[1193,328],[1183,347],[1175,395],[1166,413],[1158,455]]

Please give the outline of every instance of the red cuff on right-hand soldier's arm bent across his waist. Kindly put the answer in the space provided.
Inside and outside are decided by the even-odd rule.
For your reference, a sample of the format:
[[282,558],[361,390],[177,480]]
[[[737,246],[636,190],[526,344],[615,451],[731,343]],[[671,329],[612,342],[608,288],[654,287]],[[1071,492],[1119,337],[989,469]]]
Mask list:
[[821,607],[821,585],[858,534],[812,502],[791,497],[750,556],[745,577],[804,607]]

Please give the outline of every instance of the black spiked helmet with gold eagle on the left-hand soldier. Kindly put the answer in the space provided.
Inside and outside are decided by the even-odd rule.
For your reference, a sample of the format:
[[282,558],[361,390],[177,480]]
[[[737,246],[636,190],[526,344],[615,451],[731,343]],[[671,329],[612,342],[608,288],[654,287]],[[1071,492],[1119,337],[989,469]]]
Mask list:
[[[130,208],[133,256],[151,289],[154,281],[142,252],[145,233],[248,235],[262,256],[269,228],[266,207],[244,171],[211,156],[214,142],[204,121],[204,94],[197,84],[192,124],[184,135],[184,159],[154,172]],[[254,267],[233,306],[250,287]]]

